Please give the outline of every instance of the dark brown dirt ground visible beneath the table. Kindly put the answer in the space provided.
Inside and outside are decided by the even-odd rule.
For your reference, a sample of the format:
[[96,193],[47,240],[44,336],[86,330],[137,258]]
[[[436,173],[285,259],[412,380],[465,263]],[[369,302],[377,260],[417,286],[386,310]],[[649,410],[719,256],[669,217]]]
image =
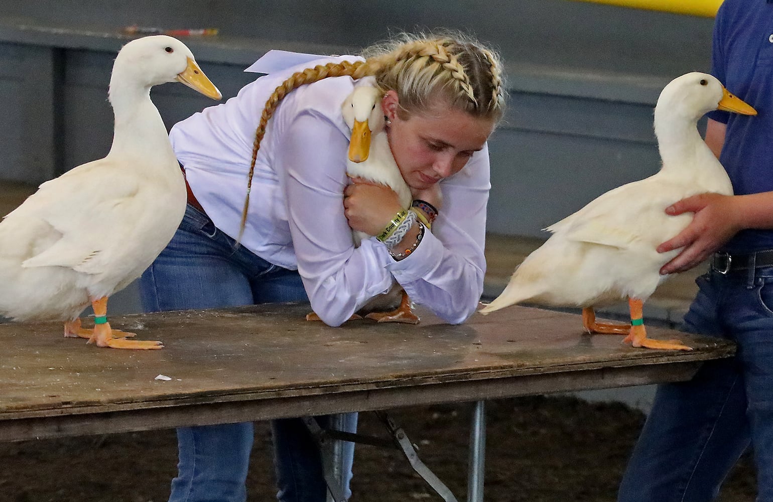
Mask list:
[[[390,416],[419,447],[424,463],[466,497],[471,405],[400,408]],[[628,453],[644,415],[618,403],[570,397],[489,401],[485,500],[551,502],[615,500]],[[371,413],[360,432],[382,435]],[[258,424],[248,500],[274,498],[267,425]],[[0,501],[164,502],[175,474],[174,431],[47,439],[0,444]],[[442,500],[397,450],[358,446],[351,502]],[[744,456],[721,502],[754,500],[754,473]]]

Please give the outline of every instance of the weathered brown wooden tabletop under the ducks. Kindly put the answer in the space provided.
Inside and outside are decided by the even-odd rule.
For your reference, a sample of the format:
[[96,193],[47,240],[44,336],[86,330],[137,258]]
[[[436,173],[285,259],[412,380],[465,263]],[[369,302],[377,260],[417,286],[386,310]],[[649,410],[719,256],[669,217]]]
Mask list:
[[[111,317],[163,350],[66,339],[58,323],[0,325],[0,439],[124,432],[475,401],[689,378],[732,343],[649,328],[695,350],[634,349],[579,316],[512,307],[451,326],[305,321],[308,305]],[[87,323],[88,321],[86,321]],[[169,381],[155,380],[159,374]]]

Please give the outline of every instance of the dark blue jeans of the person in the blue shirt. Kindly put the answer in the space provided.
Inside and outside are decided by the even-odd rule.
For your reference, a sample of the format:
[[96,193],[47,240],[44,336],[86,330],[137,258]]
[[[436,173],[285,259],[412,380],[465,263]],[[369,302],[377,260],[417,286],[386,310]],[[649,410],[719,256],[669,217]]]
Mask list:
[[733,340],[737,354],[659,386],[620,502],[713,500],[750,443],[757,500],[773,500],[773,268],[710,271],[696,282],[684,330]]

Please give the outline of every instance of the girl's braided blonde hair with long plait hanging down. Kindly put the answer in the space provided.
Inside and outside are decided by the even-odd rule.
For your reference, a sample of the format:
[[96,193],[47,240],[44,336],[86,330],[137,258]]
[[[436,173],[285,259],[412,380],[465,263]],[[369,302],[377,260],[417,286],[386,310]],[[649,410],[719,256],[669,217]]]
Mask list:
[[404,33],[387,43],[369,47],[363,56],[365,61],[327,63],[293,73],[268,98],[255,131],[237,243],[247,224],[255,161],[268,121],[279,102],[301,85],[327,77],[349,75],[357,80],[373,76],[383,93],[397,92],[403,118],[427,110],[438,100],[475,117],[493,121],[502,118],[505,108],[502,63],[492,50],[471,37],[458,32]]

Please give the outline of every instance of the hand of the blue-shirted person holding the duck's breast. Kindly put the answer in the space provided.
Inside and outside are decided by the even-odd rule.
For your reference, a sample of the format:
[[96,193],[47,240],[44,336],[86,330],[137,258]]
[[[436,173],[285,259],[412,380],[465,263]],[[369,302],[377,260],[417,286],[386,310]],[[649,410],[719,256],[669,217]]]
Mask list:
[[709,258],[741,230],[737,199],[719,193],[701,193],[666,207],[672,216],[695,213],[693,221],[676,237],[660,244],[659,253],[684,248],[660,269],[662,275],[682,272]]

